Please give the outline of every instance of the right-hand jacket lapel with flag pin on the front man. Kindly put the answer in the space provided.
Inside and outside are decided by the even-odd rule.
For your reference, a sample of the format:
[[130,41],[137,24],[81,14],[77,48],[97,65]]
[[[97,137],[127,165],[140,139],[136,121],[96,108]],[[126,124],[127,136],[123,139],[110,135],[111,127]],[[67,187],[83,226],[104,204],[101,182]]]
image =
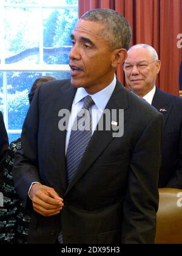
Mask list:
[[[128,107],[128,102],[127,102],[126,91],[123,88],[123,85],[121,85],[120,82],[117,82],[115,90],[113,91],[113,94],[106,105],[106,109],[110,110],[111,112],[111,110],[118,110],[118,109],[124,110],[127,107]],[[67,188],[66,194],[69,193],[73,185],[75,185],[75,183],[78,182],[78,180],[81,178],[81,176],[83,176],[83,174],[92,165],[92,163],[95,162],[96,158],[98,158],[99,155],[104,151],[104,149],[107,147],[110,141],[113,140],[113,133],[116,133],[116,131],[112,130],[111,122],[115,121],[116,123],[119,124],[119,126],[123,126],[123,124],[119,123],[118,118],[119,116],[117,115],[116,119],[110,120],[110,128],[111,128],[110,130],[106,130],[106,129],[98,130],[98,126],[99,126],[98,124],[97,129],[92,135],[89,146],[87,147],[86,152],[81,160],[81,164],[79,165],[78,171],[76,172],[75,177],[73,177],[72,182],[70,182],[69,187]],[[104,123],[103,127],[106,127],[105,121],[103,122]],[[100,122],[101,122],[101,119],[99,123]]]

